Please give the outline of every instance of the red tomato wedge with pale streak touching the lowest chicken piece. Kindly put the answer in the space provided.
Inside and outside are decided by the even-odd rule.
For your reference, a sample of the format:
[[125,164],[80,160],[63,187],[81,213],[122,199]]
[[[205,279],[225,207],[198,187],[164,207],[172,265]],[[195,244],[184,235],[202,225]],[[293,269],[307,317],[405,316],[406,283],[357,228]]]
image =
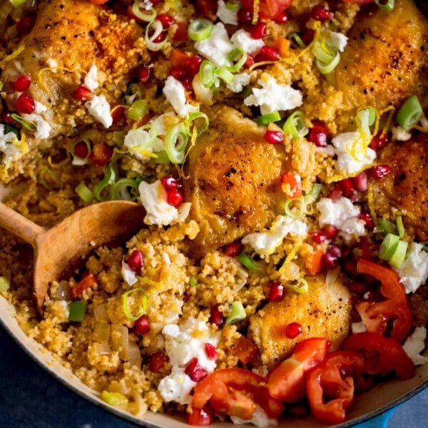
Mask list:
[[320,337],[297,343],[292,356],[280,362],[267,377],[271,397],[289,403],[304,398],[305,372],[325,357],[328,345],[328,340]]

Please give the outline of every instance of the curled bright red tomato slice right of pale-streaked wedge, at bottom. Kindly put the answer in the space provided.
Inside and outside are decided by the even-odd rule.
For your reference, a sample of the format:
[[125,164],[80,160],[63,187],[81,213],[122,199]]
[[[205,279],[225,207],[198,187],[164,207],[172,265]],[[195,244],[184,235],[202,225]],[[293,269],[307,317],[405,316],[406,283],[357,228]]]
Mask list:
[[345,422],[354,399],[354,377],[360,377],[364,358],[357,352],[328,354],[306,375],[307,399],[312,414],[325,424]]

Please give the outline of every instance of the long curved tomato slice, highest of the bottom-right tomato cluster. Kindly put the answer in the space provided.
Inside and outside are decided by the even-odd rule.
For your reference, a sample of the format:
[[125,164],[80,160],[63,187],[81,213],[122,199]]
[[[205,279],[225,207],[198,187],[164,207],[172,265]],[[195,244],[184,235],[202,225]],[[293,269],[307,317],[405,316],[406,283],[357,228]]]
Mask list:
[[357,272],[372,275],[382,282],[380,292],[387,298],[383,302],[360,302],[355,305],[367,330],[384,333],[389,321],[394,320],[391,337],[401,342],[409,334],[412,317],[406,292],[397,273],[365,259],[358,260]]

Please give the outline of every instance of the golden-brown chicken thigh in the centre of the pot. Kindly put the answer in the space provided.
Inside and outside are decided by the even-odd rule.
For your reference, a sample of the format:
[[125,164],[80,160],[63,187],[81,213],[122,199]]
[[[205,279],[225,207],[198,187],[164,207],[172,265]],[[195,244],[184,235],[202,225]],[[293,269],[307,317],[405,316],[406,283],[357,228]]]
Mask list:
[[270,225],[280,195],[285,150],[233,108],[220,108],[189,153],[184,181],[190,215],[200,225],[203,254]]

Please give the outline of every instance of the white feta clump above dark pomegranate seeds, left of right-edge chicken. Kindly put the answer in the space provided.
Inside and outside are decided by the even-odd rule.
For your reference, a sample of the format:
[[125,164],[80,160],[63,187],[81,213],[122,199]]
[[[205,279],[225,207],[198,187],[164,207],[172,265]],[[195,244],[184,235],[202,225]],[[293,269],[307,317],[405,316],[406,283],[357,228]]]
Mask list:
[[322,198],[317,203],[317,209],[320,211],[320,226],[335,226],[345,241],[350,242],[366,234],[365,223],[359,218],[360,208],[353,205],[348,198]]

